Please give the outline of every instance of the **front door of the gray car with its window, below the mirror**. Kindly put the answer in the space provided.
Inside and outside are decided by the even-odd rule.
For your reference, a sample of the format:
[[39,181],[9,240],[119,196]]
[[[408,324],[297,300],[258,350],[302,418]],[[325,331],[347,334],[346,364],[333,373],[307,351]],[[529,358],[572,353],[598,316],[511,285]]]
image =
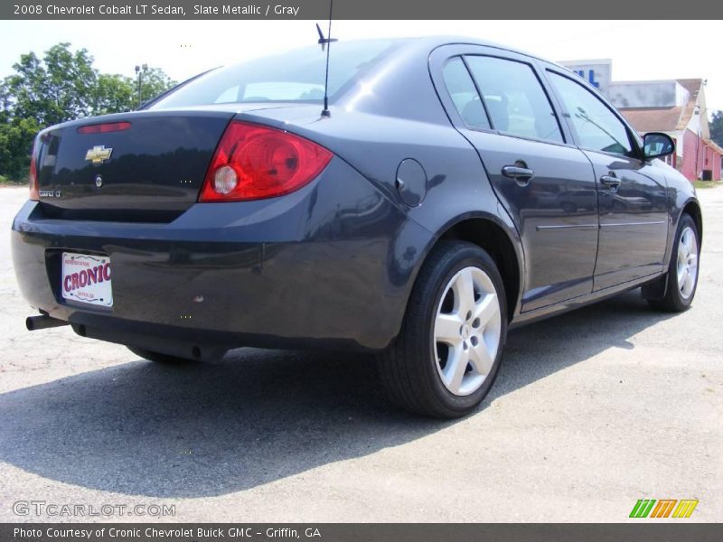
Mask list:
[[598,182],[600,240],[594,290],[659,273],[668,238],[662,168],[641,160],[633,133],[575,75],[547,70],[580,149]]

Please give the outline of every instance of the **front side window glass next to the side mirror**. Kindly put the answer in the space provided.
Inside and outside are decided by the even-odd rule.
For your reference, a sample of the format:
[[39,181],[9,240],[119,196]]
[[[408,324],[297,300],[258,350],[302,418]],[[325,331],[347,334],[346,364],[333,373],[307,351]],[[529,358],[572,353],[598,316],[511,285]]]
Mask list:
[[604,153],[633,154],[625,125],[599,98],[572,79],[554,71],[548,73],[577,132],[580,146]]

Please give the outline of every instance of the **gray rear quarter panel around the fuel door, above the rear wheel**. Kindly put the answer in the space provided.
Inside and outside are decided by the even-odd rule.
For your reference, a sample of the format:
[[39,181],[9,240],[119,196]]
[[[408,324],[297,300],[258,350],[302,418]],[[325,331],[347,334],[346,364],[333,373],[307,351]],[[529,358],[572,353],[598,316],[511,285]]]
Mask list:
[[[499,205],[479,155],[442,107],[429,73],[430,50],[413,52],[406,51],[403,59],[391,61],[375,79],[348,93],[331,107],[330,117],[321,117],[313,106],[251,111],[242,117],[324,145],[362,173],[411,223],[429,232],[423,244],[418,235],[407,238],[404,228],[390,232],[396,247],[390,273],[404,281],[407,296],[437,239],[469,218],[492,220],[505,231],[523,276],[519,234]],[[405,204],[398,190],[399,164],[407,159],[416,160],[426,173],[416,206]]]

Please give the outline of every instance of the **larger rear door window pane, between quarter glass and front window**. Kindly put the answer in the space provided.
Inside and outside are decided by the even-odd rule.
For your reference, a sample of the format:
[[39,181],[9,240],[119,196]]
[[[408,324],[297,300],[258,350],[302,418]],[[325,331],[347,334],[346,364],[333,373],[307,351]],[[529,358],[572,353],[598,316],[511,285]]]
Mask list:
[[562,143],[558,119],[529,64],[485,56],[465,56],[493,128]]

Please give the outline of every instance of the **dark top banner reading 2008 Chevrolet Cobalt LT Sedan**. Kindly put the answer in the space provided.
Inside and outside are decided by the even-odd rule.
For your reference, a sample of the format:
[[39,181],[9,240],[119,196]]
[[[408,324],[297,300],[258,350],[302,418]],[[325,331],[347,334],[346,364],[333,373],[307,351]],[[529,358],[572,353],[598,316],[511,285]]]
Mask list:
[[[3,0],[0,19],[299,19],[324,20],[330,0]],[[342,20],[721,19],[720,0],[334,0]],[[513,32],[513,29],[510,29]]]

